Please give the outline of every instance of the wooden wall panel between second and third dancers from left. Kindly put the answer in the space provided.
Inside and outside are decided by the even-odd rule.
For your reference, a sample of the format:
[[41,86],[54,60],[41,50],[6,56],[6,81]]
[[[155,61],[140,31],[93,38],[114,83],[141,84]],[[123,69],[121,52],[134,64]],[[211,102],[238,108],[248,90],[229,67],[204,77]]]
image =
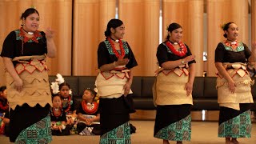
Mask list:
[[138,62],[134,75],[153,76],[158,68],[159,10],[158,0],[119,1],[119,18],[126,26],[124,40],[129,43]]

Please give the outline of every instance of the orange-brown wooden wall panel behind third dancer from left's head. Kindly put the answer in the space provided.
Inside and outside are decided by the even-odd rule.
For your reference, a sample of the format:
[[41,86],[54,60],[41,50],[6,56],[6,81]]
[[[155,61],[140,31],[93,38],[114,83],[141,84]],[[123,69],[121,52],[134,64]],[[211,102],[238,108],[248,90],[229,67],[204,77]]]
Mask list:
[[163,0],[163,38],[172,22],[182,26],[182,42],[185,42],[196,55],[196,76],[203,73],[203,0]]

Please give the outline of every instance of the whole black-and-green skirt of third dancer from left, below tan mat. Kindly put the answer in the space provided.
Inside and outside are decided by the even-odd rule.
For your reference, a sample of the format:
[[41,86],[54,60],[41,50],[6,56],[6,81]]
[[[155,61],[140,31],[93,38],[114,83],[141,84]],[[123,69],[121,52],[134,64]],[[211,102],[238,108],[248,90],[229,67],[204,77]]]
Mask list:
[[190,104],[158,106],[154,138],[170,141],[190,141]]

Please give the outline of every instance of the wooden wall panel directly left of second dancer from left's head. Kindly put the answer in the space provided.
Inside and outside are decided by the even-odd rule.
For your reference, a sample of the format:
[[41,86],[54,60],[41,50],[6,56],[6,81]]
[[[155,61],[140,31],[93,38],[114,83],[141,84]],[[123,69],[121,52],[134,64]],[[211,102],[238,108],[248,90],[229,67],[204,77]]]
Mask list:
[[115,0],[74,0],[73,74],[96,75],[99,42],[114,18]]

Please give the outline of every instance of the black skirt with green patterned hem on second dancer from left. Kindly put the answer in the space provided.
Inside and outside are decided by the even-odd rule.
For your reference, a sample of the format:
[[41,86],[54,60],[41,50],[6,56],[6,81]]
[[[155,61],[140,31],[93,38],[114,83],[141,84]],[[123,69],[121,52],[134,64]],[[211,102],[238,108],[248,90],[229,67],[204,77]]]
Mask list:
[[[129,95],[129,94],[128,94]],[[100,98],[101,144],[130,144],[130,107],[120,98]]]

